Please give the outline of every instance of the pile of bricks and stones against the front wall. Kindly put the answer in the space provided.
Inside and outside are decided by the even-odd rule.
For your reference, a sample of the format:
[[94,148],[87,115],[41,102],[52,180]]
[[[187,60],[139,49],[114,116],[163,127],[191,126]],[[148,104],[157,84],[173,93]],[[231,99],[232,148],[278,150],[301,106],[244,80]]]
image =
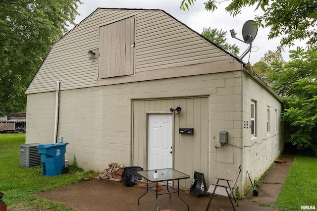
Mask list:
[[98,180],[111,180],[111,181],[121,181],[121,174],[125,168],[124,164],[118,164],[117,162],[111,162],[108,164],[106,169],[101,172],[96,178]]

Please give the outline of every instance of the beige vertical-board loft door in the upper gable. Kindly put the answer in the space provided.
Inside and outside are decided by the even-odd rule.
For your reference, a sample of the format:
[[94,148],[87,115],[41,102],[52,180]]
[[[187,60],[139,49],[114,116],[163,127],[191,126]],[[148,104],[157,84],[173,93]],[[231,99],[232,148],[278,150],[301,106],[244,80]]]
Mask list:
[[100,27],[99,78],[132,75],[134,16]]

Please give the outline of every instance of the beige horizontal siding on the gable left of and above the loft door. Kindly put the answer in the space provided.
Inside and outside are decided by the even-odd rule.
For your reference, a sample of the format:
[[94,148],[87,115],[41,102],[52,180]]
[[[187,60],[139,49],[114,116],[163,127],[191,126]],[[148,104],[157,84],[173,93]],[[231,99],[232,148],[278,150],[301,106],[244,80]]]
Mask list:
[[57,80],[61,90],[97,86],[99,59],[87,53],[99,49],[99,27],[143,12],[97,9],[53,45],[26,94],[54,91]]

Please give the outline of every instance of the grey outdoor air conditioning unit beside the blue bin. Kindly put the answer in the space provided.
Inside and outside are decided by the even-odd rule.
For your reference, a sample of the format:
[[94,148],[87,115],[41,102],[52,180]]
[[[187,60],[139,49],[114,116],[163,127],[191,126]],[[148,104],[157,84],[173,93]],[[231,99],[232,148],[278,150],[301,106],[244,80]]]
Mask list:
[[36,148],[39,144],[20,145],[20,166],[32,167],[41,165],[41,156]]

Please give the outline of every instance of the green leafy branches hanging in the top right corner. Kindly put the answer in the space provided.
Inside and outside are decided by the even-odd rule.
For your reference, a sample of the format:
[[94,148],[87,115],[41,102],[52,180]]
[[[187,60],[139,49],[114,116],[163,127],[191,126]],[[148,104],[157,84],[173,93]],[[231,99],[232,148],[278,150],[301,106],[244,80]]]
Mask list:
[[293,46],[294,40],[308,39],[306,44],[316,48],[316,0],[279,0],[266,2],[264,6],[264,15],[257,20],[271,27],[269,39],[285,34],[288,36],[282,38],[282,46]]

